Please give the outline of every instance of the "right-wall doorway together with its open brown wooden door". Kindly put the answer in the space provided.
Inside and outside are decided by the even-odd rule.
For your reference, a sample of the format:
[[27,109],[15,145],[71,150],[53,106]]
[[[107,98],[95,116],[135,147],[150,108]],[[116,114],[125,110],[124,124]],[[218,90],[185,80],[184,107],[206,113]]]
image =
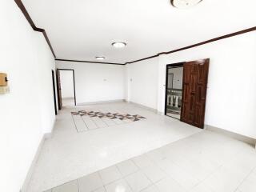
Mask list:
[[167,116],[204,127],[209,63],[206,58],[166,66]]

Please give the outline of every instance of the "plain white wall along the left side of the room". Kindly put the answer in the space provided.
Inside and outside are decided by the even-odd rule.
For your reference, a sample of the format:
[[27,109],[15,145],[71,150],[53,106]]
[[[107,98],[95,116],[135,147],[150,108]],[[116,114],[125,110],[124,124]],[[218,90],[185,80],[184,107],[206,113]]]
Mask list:
[[54,58],[14,1],[0,2],[0,23],[0,71],[10,79],[10,94],[0,95],[0,189],[17,192],[54,125]]

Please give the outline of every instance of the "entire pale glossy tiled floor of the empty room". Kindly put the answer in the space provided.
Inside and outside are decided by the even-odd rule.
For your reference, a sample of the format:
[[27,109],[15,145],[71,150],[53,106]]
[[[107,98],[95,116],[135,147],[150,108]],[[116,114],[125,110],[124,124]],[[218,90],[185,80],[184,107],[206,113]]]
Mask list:
[[255,166],[252,146],[133,104],[66,107],[42,147],[29,191],[250,192]]

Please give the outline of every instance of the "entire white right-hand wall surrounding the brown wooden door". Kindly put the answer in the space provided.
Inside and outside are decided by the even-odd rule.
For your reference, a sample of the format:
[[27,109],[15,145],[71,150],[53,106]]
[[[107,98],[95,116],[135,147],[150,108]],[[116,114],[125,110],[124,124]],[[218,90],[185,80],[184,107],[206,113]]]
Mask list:
[[[166,64],[210,58],[206,101],[206,124],[256,138],[256,32],[211,42],[174,54],[160,55],[128,66],[135,76],[130,98],[164,112]],[[153,66],[158,65],[158,70]],[[142,67],[143,66],[143,67]],[[154,70],[153,70],[154,69]],[[150,74],[145,78],[146,74]],[[158,77],[158,78],[156,78]],[[150,85],[157,84],[151,89]],[[127,79],[128,81],[129,79]],[[158,97],[148,98],[158,93]],[[146,100],[146,101],[144,101]],[[155,107],[155,103],[158,103]]]

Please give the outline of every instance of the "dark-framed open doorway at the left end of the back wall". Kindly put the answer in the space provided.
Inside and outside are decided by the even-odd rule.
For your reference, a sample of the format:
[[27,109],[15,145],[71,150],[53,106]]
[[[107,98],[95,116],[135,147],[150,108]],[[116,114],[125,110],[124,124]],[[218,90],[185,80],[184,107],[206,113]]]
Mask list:
[[76,106],[74,70],[57,69],[58,109]]

